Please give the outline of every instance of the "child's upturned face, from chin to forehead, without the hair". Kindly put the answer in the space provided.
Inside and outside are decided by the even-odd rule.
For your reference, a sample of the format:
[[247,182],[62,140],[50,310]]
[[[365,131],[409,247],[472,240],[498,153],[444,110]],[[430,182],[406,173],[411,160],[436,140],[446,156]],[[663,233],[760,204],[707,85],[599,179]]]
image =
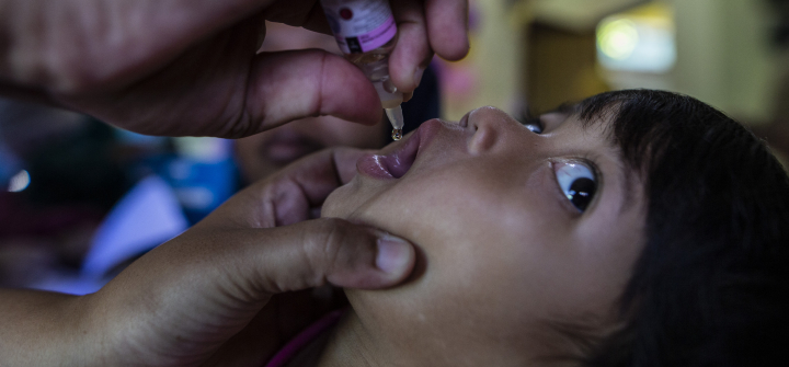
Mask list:
[[392,337],[485,335],[505,347],[540,321],[609,320],[644,243],[642,183],[607,122],[584,128],[552,113],[541,124],[536,134],[482,107],[359,160],[323,215],[381,228],[420,253],[405,285],[348,290],[363,322]]

